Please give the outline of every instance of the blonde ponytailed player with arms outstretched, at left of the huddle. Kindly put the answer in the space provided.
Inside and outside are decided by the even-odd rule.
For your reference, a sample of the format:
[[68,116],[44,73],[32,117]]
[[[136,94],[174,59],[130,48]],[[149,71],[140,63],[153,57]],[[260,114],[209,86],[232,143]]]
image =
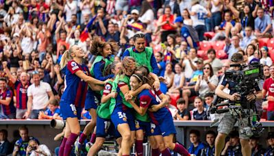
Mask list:
[[[86,100],[88,83],[103,85],[90,77],[88,66],[82,64],[85,53],[82,48],[73,45],[69,51],[65,51],[60,62],[61,69],[66,70],[65,89],[60,100],[62,117],[66,120],[66,131],[60,146],[59,155],[70,155],[73,143],[80,133],[79,119],[81,118],[82,107]],[[66,67],[66,68],[65,68]]]

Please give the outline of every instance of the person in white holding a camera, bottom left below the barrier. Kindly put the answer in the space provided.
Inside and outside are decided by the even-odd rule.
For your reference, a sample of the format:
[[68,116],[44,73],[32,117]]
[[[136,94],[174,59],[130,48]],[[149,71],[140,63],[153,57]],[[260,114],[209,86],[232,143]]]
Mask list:
[[29,156],[51,156],[51,151],[45,144],[39,144],[36,140],[29,140],[26,150]]

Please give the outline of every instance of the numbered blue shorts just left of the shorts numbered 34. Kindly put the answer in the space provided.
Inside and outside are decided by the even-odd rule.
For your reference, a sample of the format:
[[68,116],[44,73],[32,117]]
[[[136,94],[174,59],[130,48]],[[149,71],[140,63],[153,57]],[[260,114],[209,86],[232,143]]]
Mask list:
[[120,138],[120,133],[114,129],[114,125],[110,119],[100,118],[97,116],[96,137],[105,138],[108,134],[115,138]]

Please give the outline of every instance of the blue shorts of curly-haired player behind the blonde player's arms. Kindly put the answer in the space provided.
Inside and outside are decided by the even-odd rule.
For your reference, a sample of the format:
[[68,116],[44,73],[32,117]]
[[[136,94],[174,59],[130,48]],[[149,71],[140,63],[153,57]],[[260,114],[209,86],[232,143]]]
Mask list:
[[101,96],[95,93],[95,91],[88,89],[88,92],[86,94],[85,109],[97,109],[97,106],[99,105],[100,101]]

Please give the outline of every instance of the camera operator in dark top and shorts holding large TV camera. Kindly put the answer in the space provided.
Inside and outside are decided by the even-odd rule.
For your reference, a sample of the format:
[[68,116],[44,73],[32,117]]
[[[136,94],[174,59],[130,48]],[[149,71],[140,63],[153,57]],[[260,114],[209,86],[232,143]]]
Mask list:
[[[234,53],[232,55],[231,59],[231,66],[233,70],[240,70],[240,64],[244,63],[244,58],[240,53]],[[226,94],[223,92],[223,89],[225,86],[227,86],[230,90],[229,94]],[[225,77],[223,76],[219,86],[216,88],[215,94],[223,99],[229,99],[230,102],[234,102],[237,100],[240,100],[241,105],[250,105],[251,101],[255,101],[256,99],[262,99],[262,88],[261,85],[256,85],[254,88],[257,92],[257,94],[249,94],[246,96],[246,99],[244,97],[241,98],[240,94],[238,92],[235,92],[234,87],[236,86],[237,82],[233,81],[225,81]],[[243,101],[247,101],[246,103],[243,103]],[[255,104],[254,104],[255,105]],[[245,109],[245,112],[247,111],[247,107],[243,107]],[[250,114],[252,114],[253,111],[250,111]],[[249,120],[250,118],[236,118],[232,116],[229,112],[226,112],[223,114],[223,118],[221,119],[221,122],[218,126],[218,135],[215,142],[215,156],[221,155],[221,151],[223,147],[225,146],[225,137],[232,131],[234,124],[238,121],[238,127],[239,129],[244,129],[245,127],[249,127]],[[252,119],[252,117],[251,117]],[[242,155],[243,156],[250,156],[251,155],[251,148],[249,146],[249,137],[245,135],[244,133],[240,133],[239,131],[239,138],[240,138],[240,144],[242,145]]]

